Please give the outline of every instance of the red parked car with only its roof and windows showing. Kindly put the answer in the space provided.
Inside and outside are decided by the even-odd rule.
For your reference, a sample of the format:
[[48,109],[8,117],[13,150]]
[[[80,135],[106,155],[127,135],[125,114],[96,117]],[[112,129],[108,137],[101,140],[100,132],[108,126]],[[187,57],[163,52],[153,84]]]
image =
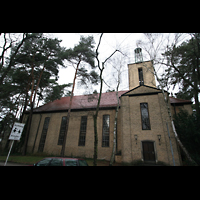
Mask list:
[[88,164],[81,158],[48,157],[32,166],[88,166]]

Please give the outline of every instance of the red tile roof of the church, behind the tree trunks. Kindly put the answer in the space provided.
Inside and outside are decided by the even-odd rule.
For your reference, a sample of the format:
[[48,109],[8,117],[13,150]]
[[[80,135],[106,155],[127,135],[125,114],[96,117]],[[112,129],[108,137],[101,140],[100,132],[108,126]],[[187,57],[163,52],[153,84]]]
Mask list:
[[[122,94],[128,92],[126,91],[119,91],[118,96],[120,97]],[[96,108],[98,102],[99,94],[92,94],[92,95],[79,95],[74,96],[72,99],[72,108],[71,109],[88,109],[88,108]],[[61,99],[57,99],[53,102],[49,102],[43,106],[35,108],[33,112],[45,112],[45,111],[61,111],[67,110],[69,108],[70,97],[62,97]],[[192,103],[189,100],[177,99],[174,97],[170,97],[170,103]],[[109,107],[116,107],[117,106],[117,98],[116,92],[107,92],[102,93],[101,101],[100,101],[100,108],[109,108]]]

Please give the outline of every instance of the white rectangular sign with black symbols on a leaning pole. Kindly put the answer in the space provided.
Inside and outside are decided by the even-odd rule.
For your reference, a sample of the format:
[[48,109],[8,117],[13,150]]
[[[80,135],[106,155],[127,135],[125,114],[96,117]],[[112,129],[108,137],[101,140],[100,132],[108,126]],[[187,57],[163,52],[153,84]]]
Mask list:
[[9,158],[9,155],[10,155],[10,152],[11,152],[11,149],[12,149],[14,141],[15,140],[20,140],[20,137],[21,137],[23,129],[24,129],[24,125],[25,124],[23,124],[23,123],[18,123],[18,122],[14,123],[12,131],[10,133],[10,137],[8,138],[9,140],[12,140],[12,144],[10,146],[10,150],[8,152],[8,156],[6,158],[6,162],[5,162],[4,166],[6,166],[6,164],[7,164],[7,161],[8,161],[8,158]]

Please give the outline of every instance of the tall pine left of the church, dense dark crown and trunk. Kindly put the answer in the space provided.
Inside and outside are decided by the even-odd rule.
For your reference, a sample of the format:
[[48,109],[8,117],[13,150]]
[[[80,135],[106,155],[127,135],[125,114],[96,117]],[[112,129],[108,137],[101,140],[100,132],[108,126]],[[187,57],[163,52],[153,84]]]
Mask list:
[[[47,78],[46,81],[48,82],[50,76],[56,77],[58,75],[59,65],[64,66],[63,58],[61,58],[64,49],[60,46],[60,42],[61,40],[46,38],[40,34],[40,37],[26,40],[20,48],[18,55],[15,57],[15,68],[23,70],[27,73],[27,77],[29,77],[27,78],[26,92],[30,90],[29,101],[31,110],[26,130],[23,155],[26,154],[32,113],[40,82],[45,82],[44,78]],[[46,76],[43,76],[43,73]]]

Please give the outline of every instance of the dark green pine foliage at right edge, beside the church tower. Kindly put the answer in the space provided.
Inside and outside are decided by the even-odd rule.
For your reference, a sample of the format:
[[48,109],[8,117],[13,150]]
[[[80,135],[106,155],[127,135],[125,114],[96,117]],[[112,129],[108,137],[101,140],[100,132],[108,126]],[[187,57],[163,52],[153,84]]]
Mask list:
[[168,59],[168,69],[163,74],[163,81],[179,85],[178,98],[195,99],[195,110],[200,120],[200,34],[194,33],[192,38],[180,46],[172,46],[164,54]]

